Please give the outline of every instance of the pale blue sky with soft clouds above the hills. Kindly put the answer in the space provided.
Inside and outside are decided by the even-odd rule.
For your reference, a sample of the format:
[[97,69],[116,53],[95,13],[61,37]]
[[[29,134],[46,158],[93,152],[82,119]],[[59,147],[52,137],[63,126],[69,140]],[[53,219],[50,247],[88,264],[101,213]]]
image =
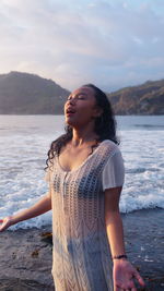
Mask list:
[[164,78],[164,0],[1,0],[0,74],[72,90]]

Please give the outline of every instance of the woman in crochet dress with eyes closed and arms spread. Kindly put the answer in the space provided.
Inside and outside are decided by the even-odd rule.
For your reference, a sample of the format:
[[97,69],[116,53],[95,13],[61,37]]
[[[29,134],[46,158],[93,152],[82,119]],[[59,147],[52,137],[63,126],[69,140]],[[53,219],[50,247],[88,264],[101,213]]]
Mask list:
[[0,231],[52,209],[56,291],[136,291],[143,279],[126,256],[119,197],[125,181],[116,121],[106,95],[92,84],[65,105],[66,134],[51,143],[37,204],[1,220]]

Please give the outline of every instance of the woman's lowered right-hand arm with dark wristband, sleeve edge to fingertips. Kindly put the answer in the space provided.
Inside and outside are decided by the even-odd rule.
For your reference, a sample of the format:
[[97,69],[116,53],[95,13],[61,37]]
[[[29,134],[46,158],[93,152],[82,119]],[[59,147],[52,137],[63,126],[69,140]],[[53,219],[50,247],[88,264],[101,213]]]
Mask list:
[[[105,222],[112,257],[125,255],[124,229],[119,214],[119,197],[121,186],[105,190]],[[114,291],[120,289],[137,291],[133,278],[141,286],[144,281],[136,268],[126,258],[114,259],[113,278]]]

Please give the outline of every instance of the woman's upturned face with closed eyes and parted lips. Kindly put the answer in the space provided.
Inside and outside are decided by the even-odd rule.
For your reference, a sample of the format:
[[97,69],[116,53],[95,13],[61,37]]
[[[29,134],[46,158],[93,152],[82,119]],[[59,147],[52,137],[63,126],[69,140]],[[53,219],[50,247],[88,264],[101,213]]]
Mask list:
[[96,105],[94,90],[80,87],[70,94],[65,105],[66,123],[72,126],[87,125],[101,116],[102,110]]

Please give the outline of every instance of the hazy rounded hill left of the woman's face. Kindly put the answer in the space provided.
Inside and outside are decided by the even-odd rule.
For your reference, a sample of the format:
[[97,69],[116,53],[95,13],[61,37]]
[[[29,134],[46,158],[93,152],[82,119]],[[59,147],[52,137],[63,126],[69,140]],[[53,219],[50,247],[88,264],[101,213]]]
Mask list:
[[62,114],[69,90],[38,75],[0,75],[0,114]]

